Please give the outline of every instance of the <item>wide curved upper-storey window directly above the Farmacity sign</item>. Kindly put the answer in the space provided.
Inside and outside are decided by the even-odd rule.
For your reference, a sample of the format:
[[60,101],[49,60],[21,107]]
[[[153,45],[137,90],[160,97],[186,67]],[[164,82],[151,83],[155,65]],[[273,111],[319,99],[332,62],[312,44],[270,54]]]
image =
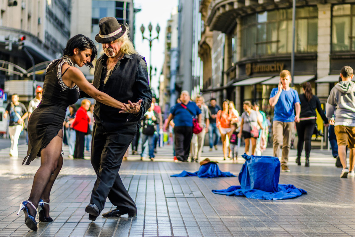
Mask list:
[[[296,52],[316,52],[318,10],[297,7]],[[290,53],[292,50],[292,9],[258,12],[242,18],[242,57]]]

